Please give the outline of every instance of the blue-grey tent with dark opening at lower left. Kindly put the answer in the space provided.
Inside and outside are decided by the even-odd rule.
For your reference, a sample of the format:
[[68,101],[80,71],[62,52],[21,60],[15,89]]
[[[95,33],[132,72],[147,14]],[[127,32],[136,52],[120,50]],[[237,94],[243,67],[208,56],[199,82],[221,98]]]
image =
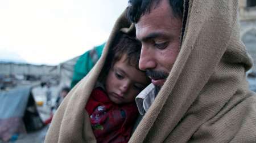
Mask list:
[[36,131],[43,122],[31,94],[32,86],[0,92],[0,139],[8,141],[20,133]]

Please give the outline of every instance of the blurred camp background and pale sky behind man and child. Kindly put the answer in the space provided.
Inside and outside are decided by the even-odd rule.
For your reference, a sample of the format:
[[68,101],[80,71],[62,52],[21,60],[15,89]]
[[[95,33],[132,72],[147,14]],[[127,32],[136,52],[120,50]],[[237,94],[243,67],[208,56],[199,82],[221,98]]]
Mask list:
[[[0,0],[0,142],[43,142],[127,1]],[[239,2],[241,40],[256,63],[256,1]],[[256,92],[255,65],[247,79]]]

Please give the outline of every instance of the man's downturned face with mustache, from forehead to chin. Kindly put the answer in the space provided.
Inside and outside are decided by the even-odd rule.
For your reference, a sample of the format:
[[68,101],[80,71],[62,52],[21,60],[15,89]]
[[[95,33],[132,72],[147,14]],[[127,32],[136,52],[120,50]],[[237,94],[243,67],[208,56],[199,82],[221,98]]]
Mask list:
[[136,36],[142,42],[139,68],[151,82],[162,86],[179,54],[181,18],[175,18],[167,0],[151,8],[135,24]]

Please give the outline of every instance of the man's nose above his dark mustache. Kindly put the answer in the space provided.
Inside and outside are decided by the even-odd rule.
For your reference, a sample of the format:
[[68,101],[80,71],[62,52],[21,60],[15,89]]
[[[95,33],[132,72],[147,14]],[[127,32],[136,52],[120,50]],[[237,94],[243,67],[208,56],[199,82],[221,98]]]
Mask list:
[[156,62],[154,60],[154,51],[148,47],[141,48],[141,57],[139,58],[139,69],[145,71],[147,69],[155,68]]

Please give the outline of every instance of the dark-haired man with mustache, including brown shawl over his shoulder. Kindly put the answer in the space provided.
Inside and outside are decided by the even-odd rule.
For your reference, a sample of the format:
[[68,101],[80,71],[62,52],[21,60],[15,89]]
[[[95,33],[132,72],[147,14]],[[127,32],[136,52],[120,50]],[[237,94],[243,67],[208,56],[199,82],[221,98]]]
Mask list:
[[139,68],[152,82],[136,98],[144,117],[130,141],[255,142],[255,93],[245,78],[251,60],[239,39],[237,1],[184,1],[184,12],[181,0],[129,3],[142,42]]

